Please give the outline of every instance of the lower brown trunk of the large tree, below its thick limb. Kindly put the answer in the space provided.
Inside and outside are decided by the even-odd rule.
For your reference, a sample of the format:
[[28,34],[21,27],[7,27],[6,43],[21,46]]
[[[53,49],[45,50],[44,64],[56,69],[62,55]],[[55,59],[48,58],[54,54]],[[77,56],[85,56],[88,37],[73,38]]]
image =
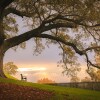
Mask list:
[[2,47],[0,47],[0,77],[7,78],[3,71],[3,57],[4,57],[3,49]]

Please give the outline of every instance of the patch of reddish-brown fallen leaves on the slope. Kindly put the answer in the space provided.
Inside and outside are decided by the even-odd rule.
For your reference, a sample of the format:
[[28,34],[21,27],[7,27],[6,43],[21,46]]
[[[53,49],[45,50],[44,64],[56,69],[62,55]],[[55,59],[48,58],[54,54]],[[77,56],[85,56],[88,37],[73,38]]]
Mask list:
[[34,98],[35,100],[48,100],[48,98],[52,98],[55,95],[53,92],[47,90],[42,90],[29,86],[19,86],[16,84],[0,83],[0,90],[2,90],[0,91],[1,100],[9,100],[9,98],[12,98],[13,100],[15,98],[20,100],[34,100]]

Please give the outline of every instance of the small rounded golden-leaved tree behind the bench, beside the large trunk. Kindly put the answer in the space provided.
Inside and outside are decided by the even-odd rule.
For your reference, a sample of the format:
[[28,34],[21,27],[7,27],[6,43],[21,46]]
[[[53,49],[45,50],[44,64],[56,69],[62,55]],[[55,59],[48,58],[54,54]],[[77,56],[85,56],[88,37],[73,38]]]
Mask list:
[[4,72],[6,74],[15,75],[17,73],[18,67],[13,62],[8,62],[4,64]]

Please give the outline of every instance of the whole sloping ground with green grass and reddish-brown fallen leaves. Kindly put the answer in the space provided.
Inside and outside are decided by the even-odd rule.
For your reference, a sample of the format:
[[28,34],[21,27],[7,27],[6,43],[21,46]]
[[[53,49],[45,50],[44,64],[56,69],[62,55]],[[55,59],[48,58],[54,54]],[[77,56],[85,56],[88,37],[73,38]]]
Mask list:
[[100,92],[0,78],[0,100],[100,100]]

